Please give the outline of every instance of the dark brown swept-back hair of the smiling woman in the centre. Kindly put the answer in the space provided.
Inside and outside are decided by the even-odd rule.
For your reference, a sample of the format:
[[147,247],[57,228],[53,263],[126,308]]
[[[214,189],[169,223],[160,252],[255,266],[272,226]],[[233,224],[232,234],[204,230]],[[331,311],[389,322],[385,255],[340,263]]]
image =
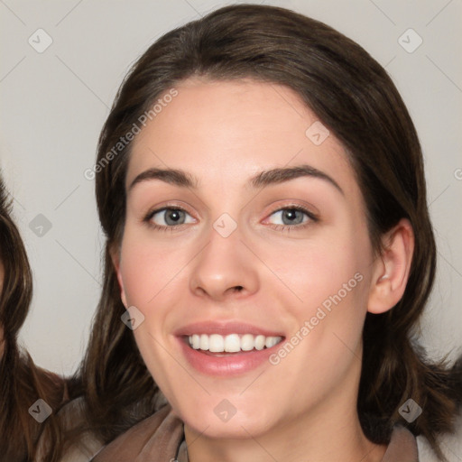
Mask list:
[[[163,35],[134,63],[99,137],[97,208],[106,234],[104,285],[81,378],[88,424],[108,442],[155,408],[159,390],[143,364],[111,261],[125,224],[125,174],[132,144],[115,151],[157,99],[191,76],[254,79],[297,92],[343,143],[365,198],[375,252],[402,217],[411,221],[415,250],[402,300],[368,314],[357,411],[368,439],[387,443],[401,422],[436,437],[453,430],[461,403],[460,362],[434,364],[411,340],[435,277],[436,247],[427,208],[420,142],[392,79],[362,47],[328,25],[290,10],[231,5]],[[409,398],[423,413],[407,424],[399,408]],[[134,412],[134,407],[136,412]]]

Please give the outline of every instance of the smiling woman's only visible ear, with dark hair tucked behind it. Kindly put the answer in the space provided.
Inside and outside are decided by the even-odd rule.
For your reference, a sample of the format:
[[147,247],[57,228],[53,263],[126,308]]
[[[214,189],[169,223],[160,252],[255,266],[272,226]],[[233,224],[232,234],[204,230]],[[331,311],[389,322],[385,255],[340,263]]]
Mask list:
[[383,236],[383,248],[374,262],[367,303],[367,310],[375,314],[391,310],[406,289],[414,252],[414,232],[408,219],[402,218]]

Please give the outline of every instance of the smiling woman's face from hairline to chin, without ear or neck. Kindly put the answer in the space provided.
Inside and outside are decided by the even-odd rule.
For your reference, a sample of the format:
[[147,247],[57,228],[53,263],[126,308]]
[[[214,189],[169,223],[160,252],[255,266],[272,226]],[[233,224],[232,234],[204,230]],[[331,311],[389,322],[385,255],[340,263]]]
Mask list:
[[346,152],[288,88],[176,89],[134,140],[115,258],[145,364],[211,437],[348,420],[374,264]]

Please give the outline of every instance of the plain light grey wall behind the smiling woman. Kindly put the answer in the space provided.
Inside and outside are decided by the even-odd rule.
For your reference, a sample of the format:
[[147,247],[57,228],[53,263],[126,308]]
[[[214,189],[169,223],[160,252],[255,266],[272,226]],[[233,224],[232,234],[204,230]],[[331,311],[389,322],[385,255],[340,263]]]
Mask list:
[[[83,173],[94,164],[99,131],[126,70],[164,32],[230,3],[0,0],[0,166],[32,263],[32,310],[20,338],[38,365],[69,374],[88,340],[102,237],[94,181]],[[462,1],[263,3],[345,33],[400,90],[423,146],[439,245],[422,341],[431,356],[452,350],[453,359],[462,338]],[[28,42],[38,41],[40,28],[53,41],[42,53]],[[398,42],[409,28],[423,40],[411,53]],[[408,33],[402,40],[409,48],[418,38]],[[38,214],[51,222],[43,236],[29,226]]]

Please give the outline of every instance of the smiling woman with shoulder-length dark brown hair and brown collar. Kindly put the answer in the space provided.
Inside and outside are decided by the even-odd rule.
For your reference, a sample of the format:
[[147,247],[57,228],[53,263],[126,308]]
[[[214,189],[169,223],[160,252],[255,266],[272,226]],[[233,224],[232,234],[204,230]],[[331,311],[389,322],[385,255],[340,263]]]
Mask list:
[[168,32],[93,173],[95,461],[418,460],[418,435],[443,457],[461,378],[411,338],[436,261],[420,143],[359,45],[262,5]]

